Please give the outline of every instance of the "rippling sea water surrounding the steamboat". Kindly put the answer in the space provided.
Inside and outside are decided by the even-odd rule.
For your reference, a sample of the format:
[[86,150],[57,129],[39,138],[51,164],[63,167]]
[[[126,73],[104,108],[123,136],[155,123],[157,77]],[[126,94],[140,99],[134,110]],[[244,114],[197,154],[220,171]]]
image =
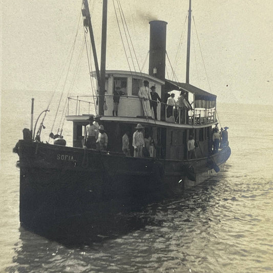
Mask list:
[[[223,172],[180,199],[118,215],[102,234],[67,243],[19,223],[18,156],[12,148],[30,127],[32,96],[36,118],[50,94],[2,92],[0,272],[273,271],[272,106],[218,103],[232,149]],[[50,110],[44,140],[55,117]],[[65,122],[69,143],[71,130]]]

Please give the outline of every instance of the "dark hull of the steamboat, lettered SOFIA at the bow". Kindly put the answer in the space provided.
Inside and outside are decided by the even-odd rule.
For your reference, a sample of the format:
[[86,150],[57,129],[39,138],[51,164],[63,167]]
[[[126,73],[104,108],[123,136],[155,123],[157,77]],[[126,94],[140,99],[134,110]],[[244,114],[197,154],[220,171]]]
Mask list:
[[[151,203],[218,171],[229,147],[209,158],[162,160],[19,141],[20,221],[35,227],[95,213],[111,202]],[[110,207],[108,207],[110,209]]]

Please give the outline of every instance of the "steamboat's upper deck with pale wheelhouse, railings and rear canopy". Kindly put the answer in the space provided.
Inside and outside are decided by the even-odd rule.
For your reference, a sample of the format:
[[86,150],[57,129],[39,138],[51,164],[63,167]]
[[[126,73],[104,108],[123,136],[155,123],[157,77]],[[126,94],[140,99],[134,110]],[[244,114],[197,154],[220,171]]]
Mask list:
[[[95,73],[92,73],[95,77]],[[141,99],[138,91],[143,86],[143,81],[149,81],[149,87],[155,86],[156,92],[161,98],[157,101],[158,120],[143,115]],[[113,116],[114,90],[120,87],[125,93],[121,95],[118,106],[118,116]],[[152,92],[152,90],[150,90]],[[172,109],[172,115],[167,115],[167,97],[175,93],[175,100],[178,94],[183,91],[190,110],[180,107]],[[85,121],[87,115],[92,115],[98,107],[98,93],[90,96],[74,96],[68,98],[68,112],[66,119],[70,121]],[[106,92],[104,94],[104,115],[102,120],[133,121],[153,123],[172,127],[206,127],[216,122],[216,96],[201,89],[186,85],[185,83],[170,80],[162,81],[148,74],[131,71],[106,71]],[[170,114],[169,114],[170,115]]]

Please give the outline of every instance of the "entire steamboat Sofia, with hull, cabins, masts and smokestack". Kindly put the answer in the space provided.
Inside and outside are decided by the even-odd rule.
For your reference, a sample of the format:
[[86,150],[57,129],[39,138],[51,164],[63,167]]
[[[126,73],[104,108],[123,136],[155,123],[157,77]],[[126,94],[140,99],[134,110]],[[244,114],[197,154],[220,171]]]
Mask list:
[[[91,75],[99,93],[68,98],[73,146],[66,145],[62,132],[51,134],[54,144],[41,142],[43,121],[37,133],[32,125],[25,129],[17,143],[20,221],[27,226],[92,212],[113,200],[149,203],[180,195],[219,172],[230,156],[226,129],[218,132],[216,96],[189,83],[191,1],[185,83],[165,78],[167,23],[159,20],[150,22],[149,74],[106,70],[106,11],[104,0],[99,70],[83,1],[96,67]],[[175,93],[180,94],[177,100]],[[91,114],[90,103],[96,100]]]

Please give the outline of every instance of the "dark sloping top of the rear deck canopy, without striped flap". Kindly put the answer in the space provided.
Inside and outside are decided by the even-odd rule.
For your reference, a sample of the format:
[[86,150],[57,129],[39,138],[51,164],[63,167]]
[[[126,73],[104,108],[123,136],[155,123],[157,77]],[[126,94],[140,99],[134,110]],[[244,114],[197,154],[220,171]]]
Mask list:
[[195,95],[196,100],[216,100],[216,95],[208,93],[200,88],[190,85],[189,83],[176,82],[173,80],[165,79],[165,91],[181,90],[191,92]]

